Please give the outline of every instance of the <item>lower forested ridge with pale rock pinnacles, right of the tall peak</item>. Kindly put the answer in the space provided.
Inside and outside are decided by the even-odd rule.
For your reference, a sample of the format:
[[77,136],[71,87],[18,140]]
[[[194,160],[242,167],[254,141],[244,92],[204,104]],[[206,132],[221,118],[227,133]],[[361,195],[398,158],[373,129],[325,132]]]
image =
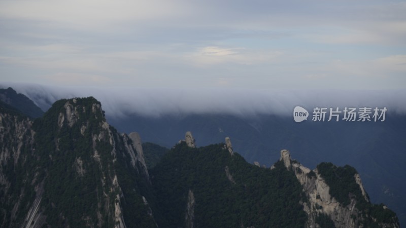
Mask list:
[[[192,137],[190,132],[186,136]],[[210,163],[216,165],[208,165]],[[194,147],[193,144],[187,144],[186,140],[181,140],[162,158],[162,162],[154,167],[152,175],[155,178],[153,182],[172,181],[175,185],[174,188],[178,189],[175,192],[178,195],[174,196],[172,190],[158,186],[157,195],[170,198],[168,200],[170,205],[187,205],[184,222],[189,226],[186,225],[186,227],[218,227],[214,224],[220,224],[221,227],[235,227],[240,226],[240,222],[241,227],[295,227],[297,225],[299,225],[298,227],[320,227],[320,224],[333,225],[328,227],[399,227],[395,213],[388,210],[387,206],[369,203],[369,198],[365,193],[358,173],[350,166],[345,166],[345,168],[350,167],[354,173],[350,175],[343,174],[340,177],[347,178],[344,181],[346,184],[356,186],[356,188],[348,190],[348,199],[346,199],[348,202],[342,200],[342,198],[337,198],[337,195],[331,195],[337,191],[331,192],[330,190],[337,190],[337,186],[329,182],[330,186],[332,186],[329,187],[325,178],[328,177],[326,175],[327,171],[335,166],[322,169],[323,164],[319,164],[320,167],[318,166],[315,170],[310,170],[297,161],[291,160],[288,150],[282,150],[280,160],[270,169],[256,167],[246,163],[238,153],[229,153],[225,143]],[[336,169],[341,170],[343,168],[336,167]],[[273,172],[278,174],[275,176]],[[206,178],[217,179],[217,181],[222,180],[217,185],[213,185],[213,183],[207,182]],[[178,179],[181,179],[181,181],[173,182]],[[263,182],[264,180],[267,181]],[[186,183],[184,183],[185,181]],[[277,186],[269,185],[278,181],[280,182]],[[259,189],[258,186],[260,186]],[[289,187],[286,188],[286,186]],[[202,188],[205,190],[202,190]],[[208,195],[201,191],[207,191],[211,194]],[[224,195],[223,191],[227,195]],[[346,188],[341,189],[341,191],[346,192]],[[290,203],[285,205],[277,200],[278,197],[273,198],[275,197],[274,192],[281,194],[278,195],[279,199],[284,199]],[[287,195],[283,195],[282,192]],[[233,196],[233,203],[229,201],[229,195]],[[297,198],[291,198],[293,196]],[[261,200],[258,201],[259,199]],[[250,202],[257,203],[250,204]],[[219,209],[223,206],[217,204],[224,205],[223,210]],[[268,208],[268,204],[272,205],[273,208]],[[206,212],[202,212],[201,207],[206,208]],[[254,215],[251,214],[249,217],[245,217],[246,214],[243,211],[248,210],[245,209],[246,207],[250,208],[250,212],[253,212]],[[286,209],[289,212],[285,211]],[[182,207],[178,209],[172,207],[171,211],[166,212],[168,213],[166,217],[174,218],[176,215],[179,216],[179,212],[182,210]],[[219,218],[220,215],[218,214],[210,214],[210,211],[213,210],[219,210],[218,212],[222,213],[222,217]],[[263,214],[263,210],[268,211],[270,215]],[[192,213],[193,211],[199,211],[199,213],[203,214],[196,215]],[[208,211],[209,214],[205,214]],[[235,214],[227,214],[227,211],[234,211]],[[307,216],[304,217],[307,217],[307,219],[301,220],[303,215],[300,214],[303,212],[306,212]],[[293,215],[291,213],[298,214]],[[287,216],[289,214],[290,216]],[[378,218],[378,215],[381,217]],[[232,219],[226,219],[227,216],[231,216]],[[182,224],[182,219],[183,217],[178,217],[175,221],[166,221],[168,223],[163,222],[163,224],[165,227],[175,227],[171,226],[171,224]],[[289,220],[289,222],[286,220]],[[239,222],[235,223],[235,221]],[[275,223],[275,221],[277,222]],[[191,224],[193,225],[190,226]]]

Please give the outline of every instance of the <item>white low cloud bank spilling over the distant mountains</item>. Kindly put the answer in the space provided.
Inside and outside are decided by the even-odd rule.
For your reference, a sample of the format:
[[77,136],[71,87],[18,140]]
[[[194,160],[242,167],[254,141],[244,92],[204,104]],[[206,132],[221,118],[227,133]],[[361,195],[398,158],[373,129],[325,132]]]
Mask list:
[[297,105],[314,107],[386,107],[406,113],[406,90],[244,90],[244,89],[145,89],[53,87],[0,83],[25,94],[46,110],[58,99],[93,96],[113,118],[131,114],[160,117],[190,113],[291,115]]

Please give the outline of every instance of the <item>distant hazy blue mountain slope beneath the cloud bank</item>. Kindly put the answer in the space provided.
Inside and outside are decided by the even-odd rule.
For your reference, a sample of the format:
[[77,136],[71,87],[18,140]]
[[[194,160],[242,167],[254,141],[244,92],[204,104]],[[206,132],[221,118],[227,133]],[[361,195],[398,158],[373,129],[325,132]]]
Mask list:
[[406,222],[406,118],[387,115],[377,123],[294,123],[273,115],[242,118],[229,115],[189,115],[183,118],[131,116],[109,122],[122,132],[137,129],[143,140],[171,147],[178,135],[192,131],[198,145],[232,138],[233,147],[250,163],[271,166],[280,150],[289,148],[302,164],[315,168],[321,162],[356,167],[371,201],[387,202]]

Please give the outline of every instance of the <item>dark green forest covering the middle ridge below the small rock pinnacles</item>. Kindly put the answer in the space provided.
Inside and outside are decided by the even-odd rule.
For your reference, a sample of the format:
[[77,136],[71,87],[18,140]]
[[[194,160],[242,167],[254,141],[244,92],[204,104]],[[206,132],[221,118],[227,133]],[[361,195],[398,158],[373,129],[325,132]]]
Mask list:
[[[226,167],[233,181],[226,175]],[[303,227],[302,188],[282,162],[259,168],[224,144],[190,148],[182,142],[151,170],[162,227],[184,224],[189,189],[195,197],[199,227]]]

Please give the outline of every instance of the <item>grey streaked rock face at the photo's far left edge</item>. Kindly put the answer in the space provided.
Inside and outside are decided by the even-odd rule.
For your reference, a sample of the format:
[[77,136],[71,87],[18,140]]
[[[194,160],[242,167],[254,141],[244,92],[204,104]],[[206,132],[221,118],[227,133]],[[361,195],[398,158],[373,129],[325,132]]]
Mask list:
[[[23,168],[32,162],[29,158],[35,153],[34,136],[32,121],[26,117],[8,113],[0,107],[0,205],[2,206],[0,215],[4,215],[0,219],[1,227],[8,227],[12,221],[24,218],[31,222],[43,218],[38,206],[42,196],[40,183],[32,180],[32,177],[36,177],[36,173],[27,173]],[[18,176],[17,173],[19,173]],[[31,182],[32,184],[26,184]],[[16,184],[22,187],[16,189]],[[35,197],[32,200],[35,205],[26,205],[23,199],[26,194],[32,194]],[[8,210],[5,209],[7,207]],[[15,226],[24,226],[24,224]]]

